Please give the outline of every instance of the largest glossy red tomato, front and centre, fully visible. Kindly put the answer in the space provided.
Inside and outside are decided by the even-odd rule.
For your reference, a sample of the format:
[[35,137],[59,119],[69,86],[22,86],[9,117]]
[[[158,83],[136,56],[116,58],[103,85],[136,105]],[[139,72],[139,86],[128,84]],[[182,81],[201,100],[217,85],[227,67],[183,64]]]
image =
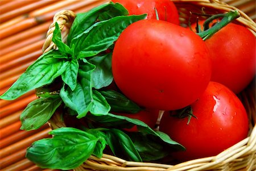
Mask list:
[[211,71],[204,41],[161,20],[131,24],[113,50],[115,83],[129,99],[150,109],[176,110],[195,102]]

